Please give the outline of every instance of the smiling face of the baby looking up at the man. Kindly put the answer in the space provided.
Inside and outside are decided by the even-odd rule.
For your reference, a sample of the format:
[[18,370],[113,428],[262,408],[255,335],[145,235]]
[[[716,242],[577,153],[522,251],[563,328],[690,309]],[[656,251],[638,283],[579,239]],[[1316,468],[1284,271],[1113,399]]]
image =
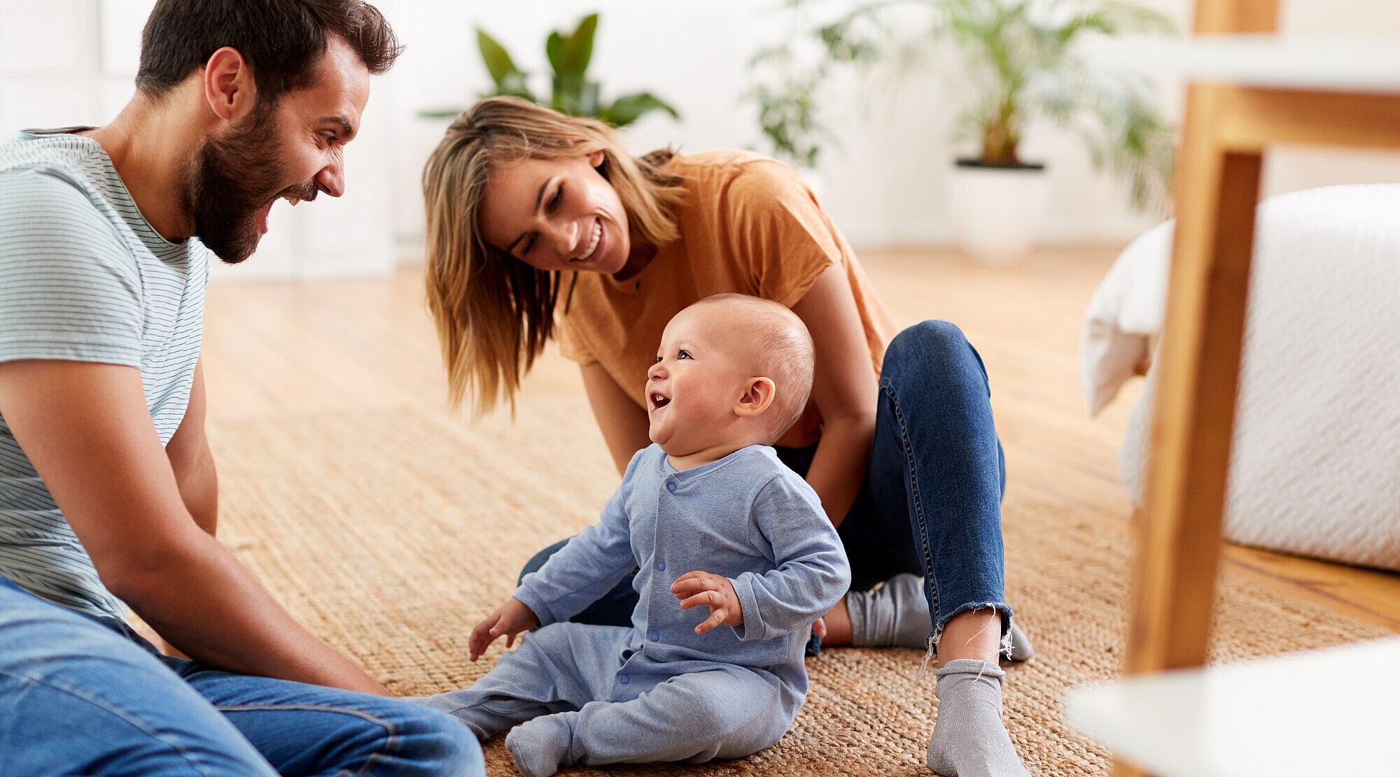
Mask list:
[[735,358],[742,344],[724,312],[724,305],[700,305],[676,313],[647,370],[651,442],[671,456],[720,446],[742,432],[734,405],[749,376]]

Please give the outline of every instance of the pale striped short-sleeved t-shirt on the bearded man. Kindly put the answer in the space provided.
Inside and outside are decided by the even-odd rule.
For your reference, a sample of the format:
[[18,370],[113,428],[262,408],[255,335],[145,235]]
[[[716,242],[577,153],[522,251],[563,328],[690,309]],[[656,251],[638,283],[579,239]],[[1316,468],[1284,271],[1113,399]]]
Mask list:
[[[199,361],[209,250],[161,238],[102,147],[67,131],[20,133],[0,145],[0,362],[137,368],[165,444],[185,418]],[[3,415],[0,576],[95,615],[126,611]]]

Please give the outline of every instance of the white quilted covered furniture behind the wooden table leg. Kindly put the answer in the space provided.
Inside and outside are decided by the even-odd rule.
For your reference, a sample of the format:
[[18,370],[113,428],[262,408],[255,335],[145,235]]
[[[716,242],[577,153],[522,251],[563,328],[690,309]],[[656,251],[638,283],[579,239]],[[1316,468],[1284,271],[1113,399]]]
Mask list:
[[[1400,183],[1329,186],[1260,204],[1225,538],[1400,570]],[[1134,240],[1095,291],[1081,342],[1091,412],[1162,328],[1172,222]],[[1142,504],[1161,372],[1119,468]]]

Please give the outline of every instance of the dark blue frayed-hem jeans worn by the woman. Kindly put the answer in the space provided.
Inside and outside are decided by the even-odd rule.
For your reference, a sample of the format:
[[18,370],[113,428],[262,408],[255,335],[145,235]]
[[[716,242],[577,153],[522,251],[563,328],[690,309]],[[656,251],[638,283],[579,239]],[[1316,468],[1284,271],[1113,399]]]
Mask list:
[[[777,449],[799,475],[806,475],[815,450]],[[981,356],[948,321],[899,333],[881,366],[865,482],[837,530],[851,562],[851,588],[871,588],[902,572],[923,574],[934,639],[953,615],[988,607],[1001,613],[1005,633],[1011,623],[1002,594],[1005,485]],[[521,577],[564,542],[536,553]],[[636,604],[627,577],[574,620],[627,626]]]

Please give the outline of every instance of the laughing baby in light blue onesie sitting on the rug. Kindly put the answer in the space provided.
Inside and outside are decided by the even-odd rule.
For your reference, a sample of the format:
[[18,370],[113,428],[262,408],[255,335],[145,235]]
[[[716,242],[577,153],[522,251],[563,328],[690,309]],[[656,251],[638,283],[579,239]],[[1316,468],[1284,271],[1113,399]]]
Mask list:
[[[806,327],[776,302],[715,295],[671,319],[647,373],[655,444],[599,521],[472,630],[468,653],[540,629],[427,704],[482,739],[515,727],[505,746],[528,777],[777,742],[806,699],[809,627],[850,584],[816,493],[769,447],[806,405],[812,362]],[[633,569],[630,629],[567,622]]]

